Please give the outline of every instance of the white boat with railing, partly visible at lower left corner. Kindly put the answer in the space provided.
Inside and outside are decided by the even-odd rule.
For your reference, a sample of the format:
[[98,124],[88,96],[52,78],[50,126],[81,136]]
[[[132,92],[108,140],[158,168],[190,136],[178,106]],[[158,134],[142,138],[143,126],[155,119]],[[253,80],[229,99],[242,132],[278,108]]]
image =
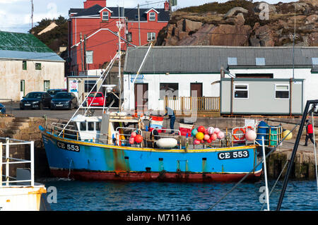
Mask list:
[[[30,145],[30,160],[16,159],[12,147]],[[10,152],[11,150],[11,152]],[[42,211],[50,210],[46,200],[47,189],[34,181],[34,142],[0,138],[0,211]],[[16,176],[10,176],[10,166],[20,166]],[[30,165],[30,168],[25,166]]]

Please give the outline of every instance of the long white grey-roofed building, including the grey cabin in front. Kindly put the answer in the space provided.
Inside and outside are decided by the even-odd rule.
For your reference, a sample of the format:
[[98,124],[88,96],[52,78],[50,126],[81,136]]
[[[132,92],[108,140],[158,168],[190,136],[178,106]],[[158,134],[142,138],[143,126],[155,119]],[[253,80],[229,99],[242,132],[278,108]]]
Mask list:
[[126,51],[126,110],[302,114],[318,99],[318,47],[152,47],[134,79],[147,50]]

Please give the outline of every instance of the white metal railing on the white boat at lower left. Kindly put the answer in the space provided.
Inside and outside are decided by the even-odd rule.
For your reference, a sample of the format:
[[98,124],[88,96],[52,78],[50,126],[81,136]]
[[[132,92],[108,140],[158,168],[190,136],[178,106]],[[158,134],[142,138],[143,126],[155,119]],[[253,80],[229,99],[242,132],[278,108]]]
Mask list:
[[[16,150],[16,147],[30,145],[30,160],[18,159],[10,157],[11,149]],[[11,148],[12,147],[12,148]],[[27,152],[27,151],[25,151]],[[12,138],[0,138],[0,188],[4,186],[15,186],[15,187],[25,187],[25,186],[35,186],[34,181],[34,141],[24,141],[16,140]],[[14,168],[25,169],[25,164],[29,164],[30,176],[25,176],[26,179],[20,180],[18,176],[10,176],[11,166]],[[18,172],[17,172],[18,173]],[[18,174],[17,174],[18,175]]]

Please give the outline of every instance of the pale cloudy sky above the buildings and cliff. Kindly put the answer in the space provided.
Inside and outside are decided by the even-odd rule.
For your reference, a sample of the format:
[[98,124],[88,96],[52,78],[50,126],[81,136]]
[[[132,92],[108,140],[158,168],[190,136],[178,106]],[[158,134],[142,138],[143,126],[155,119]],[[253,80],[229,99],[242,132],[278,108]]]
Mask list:
[[[36,25],[43,18],[58,18],[64,16],[69,18],[69,8],[83,8],[83,1],[86,0],[33,0],[34,15],[33,21]],[[219,3],[227,0],[220,0]],[[254,0],[255,1],[255,0]],[[290,2],[295,0],[281,0]],[[177,8],[188,6],[199,6],[211,3],[211,0],[177,0]],[[276,4],[279,0],[266,0],[269,4]],[[107,6],[124,6],[125,8],[163,8],[163,0],[107,0]],[[0,0],[0,30],[10,32],[28,32],[32,27],[31,0]]]

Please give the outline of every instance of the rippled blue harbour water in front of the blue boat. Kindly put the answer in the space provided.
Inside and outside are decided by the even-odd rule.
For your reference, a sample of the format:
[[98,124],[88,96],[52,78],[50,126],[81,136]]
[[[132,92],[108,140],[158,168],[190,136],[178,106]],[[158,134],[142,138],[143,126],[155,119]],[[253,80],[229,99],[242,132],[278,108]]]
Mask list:
[[[269,191],[275,181],[269,181]],[[236,183],[156,183],[156,182],[83,182],[54,180],[45,186],[57,188],[53,211],[205,211],[220,200]],[[275,210],[283,181],[270,196]],[[259,211],[264,181],[241,183],[212,210]],[[281,210],[318,211],[316,181],[289,181]]]

